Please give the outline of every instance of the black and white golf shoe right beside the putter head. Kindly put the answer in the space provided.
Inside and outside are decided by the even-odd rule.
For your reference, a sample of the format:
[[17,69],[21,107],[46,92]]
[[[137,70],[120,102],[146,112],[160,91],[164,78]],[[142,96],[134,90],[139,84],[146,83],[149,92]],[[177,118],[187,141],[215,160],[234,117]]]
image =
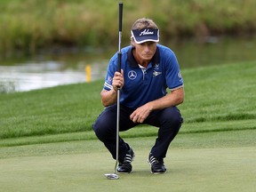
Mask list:
[[132,172],[132,160],[134,158],[134,152],[132,148],[129,149],[127,154],[124,156],[124,161],[119,162],[117,172],[119,173],[130,173]]

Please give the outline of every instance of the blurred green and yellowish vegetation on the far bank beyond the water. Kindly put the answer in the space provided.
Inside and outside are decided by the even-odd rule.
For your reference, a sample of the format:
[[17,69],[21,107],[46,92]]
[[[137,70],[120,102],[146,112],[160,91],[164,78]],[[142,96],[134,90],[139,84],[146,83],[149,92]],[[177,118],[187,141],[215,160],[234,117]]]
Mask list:
[[[116,44],[119,0],[0,0],[0,52],[35,53],[54,46]],[[252,34],[253,0],[124,0],[124,40],[134,20],[149,17],[161,41],[174,38]],[[126,42],[127,43],[127,42]]]

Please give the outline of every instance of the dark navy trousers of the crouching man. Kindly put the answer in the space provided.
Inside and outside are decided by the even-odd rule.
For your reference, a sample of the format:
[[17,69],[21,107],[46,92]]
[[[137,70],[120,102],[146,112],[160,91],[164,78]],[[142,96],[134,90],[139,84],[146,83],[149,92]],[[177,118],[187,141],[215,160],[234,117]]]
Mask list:
[[[105,108],[92,125],[96,136],[108,148],[114,159],[116,159],[116,110],[116,105]],[[138,125],[134,124],[130,119],[132,112],[132,108],[126,108],[120,105],[120,132],[127,131]],[[166,156],[167,150],[179,132],[182,122],[183,119],[180,111],[176,107],[152,111],[149,114],[143,124],[149,124],[159,128],[155,145],[150,152],[153,156],[159,159]],[[119,137],[119,162],[124,160],[124,156],[129,149],[129,145]]]

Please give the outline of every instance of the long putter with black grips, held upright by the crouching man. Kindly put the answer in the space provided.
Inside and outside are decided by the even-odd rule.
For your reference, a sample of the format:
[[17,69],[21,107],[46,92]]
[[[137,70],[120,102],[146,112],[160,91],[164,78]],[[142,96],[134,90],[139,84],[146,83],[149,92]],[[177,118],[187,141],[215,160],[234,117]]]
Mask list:
[[[119,2],[119,40],[118,40],[118,72],[121,72],[121,39],[122,39],[122,20],[123,20],[123,3]],[[119,154],[119,122],[120,122],[120,87],[117,87],[117,111],[116,111],[116,164],[114,167],[114,173],[107,173],[105,176],[108,180],[118,180],[119,177],[116,173],[116,167],[118,164]]]

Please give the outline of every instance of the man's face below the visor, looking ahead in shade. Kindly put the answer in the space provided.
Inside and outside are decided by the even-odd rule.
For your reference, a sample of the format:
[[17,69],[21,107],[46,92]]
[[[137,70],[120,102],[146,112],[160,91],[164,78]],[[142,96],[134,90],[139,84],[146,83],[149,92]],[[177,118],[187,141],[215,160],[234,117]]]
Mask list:
[[145,42],[142,44],[136,44],[132,42],[135,47],[135,57],[139,60],[151,60],[156,52],[156,42]]

